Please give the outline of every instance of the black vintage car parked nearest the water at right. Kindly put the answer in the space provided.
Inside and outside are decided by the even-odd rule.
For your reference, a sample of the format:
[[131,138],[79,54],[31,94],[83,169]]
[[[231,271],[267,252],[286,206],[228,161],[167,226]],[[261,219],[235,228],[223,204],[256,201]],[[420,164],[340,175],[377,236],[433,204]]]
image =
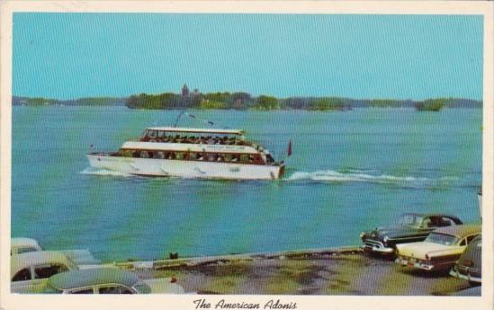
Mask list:
[[460,218],[445,214],[405,213],[401,215],[397,225],[362,232],[360,238],[364,243],[364,251],[392,254],[395,252],[396,244],[424,241],[437,227],[461,224]]

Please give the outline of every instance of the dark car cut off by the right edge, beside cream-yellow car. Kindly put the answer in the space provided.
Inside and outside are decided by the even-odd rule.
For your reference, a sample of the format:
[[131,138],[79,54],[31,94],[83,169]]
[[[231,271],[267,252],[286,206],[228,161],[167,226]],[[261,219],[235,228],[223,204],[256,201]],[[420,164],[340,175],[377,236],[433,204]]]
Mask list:
[[459,279],[466,279],[472,285],[482,283],[482,235],[468,244],[449,274]]

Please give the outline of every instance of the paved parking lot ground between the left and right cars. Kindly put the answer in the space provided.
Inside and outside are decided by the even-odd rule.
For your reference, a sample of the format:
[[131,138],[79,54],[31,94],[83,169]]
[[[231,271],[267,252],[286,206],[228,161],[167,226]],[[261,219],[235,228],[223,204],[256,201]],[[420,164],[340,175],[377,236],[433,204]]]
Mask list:
[[447,273],[403,269],[364,252],[204,261],[152,276],[175,276],[186,291],[203,294],[441,296],[469,288]]

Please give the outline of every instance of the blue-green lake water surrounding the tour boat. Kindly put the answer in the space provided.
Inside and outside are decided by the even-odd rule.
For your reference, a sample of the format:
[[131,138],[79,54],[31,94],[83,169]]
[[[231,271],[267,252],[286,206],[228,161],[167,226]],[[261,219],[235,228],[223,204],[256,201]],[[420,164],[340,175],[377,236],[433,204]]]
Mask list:
[[[89,168],[178,111],[13,107],[12,235],[103,261],[359,244],[407,211],[479,220],[481,110],[191,111],[283,158],[279,182],[142,178]],[[183,119],[181,126],[203,127]]]

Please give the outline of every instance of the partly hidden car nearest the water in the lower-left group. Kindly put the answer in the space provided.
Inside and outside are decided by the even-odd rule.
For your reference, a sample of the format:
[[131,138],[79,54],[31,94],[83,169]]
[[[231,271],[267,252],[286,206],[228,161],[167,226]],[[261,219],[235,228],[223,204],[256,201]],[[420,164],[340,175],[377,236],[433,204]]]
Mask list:
[[[23,237],[11,239],[11,255],[37,251],[43,251],[43,248],[35,239]],[[76,262],[76,264],[81,268],[93,268],[101,263],[101,261],[94,258],[93,254],[89,252],[89,250],[59,250],[58,252],[64,253],[71,261]]]

